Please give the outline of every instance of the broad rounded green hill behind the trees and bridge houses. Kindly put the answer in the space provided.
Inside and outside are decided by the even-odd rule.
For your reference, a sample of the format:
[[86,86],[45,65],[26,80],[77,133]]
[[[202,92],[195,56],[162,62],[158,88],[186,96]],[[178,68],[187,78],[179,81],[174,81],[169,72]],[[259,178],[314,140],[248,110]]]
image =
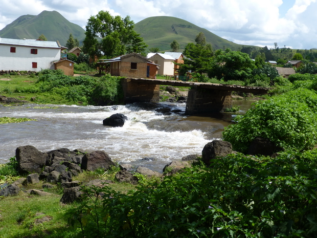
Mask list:
[[207,44],[211,44],[214,50],[223,48],[238,50],[242,47],[189,21],[171,16],[148,17],[135,24],[134,30],[141,34],[149,48],[157,47],[160,51],[170,51],[170,45],[176,39],[180,46],[179,52],[183,52],[188,43],[196,43],[195,38],[199,32],[205,34]]

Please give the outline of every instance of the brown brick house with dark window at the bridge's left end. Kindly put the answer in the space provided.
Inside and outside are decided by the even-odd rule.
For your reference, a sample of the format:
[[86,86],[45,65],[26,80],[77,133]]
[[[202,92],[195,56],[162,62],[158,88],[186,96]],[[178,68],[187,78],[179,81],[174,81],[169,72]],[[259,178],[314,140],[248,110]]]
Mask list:
[[155,78],[157,64],[140,54],[131,53],[98,62],[100,67],[110,63],[110,74],[127,78]]

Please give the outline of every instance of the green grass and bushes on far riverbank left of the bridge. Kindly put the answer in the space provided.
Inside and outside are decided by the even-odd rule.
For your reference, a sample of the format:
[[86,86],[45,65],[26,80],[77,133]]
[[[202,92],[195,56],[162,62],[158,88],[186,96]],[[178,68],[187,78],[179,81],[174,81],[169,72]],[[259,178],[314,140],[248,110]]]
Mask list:
[[[87,64],[80,70],[90,72]],[[64,75],[59,70],[42,70],[37,76],[8,76],[11,80],[0,80],[0,94],[8,97],[23,96],[24,99],[46,104],[122,104],[123,92],[119,77]],[[99,90],[99,91],[98,91]]]

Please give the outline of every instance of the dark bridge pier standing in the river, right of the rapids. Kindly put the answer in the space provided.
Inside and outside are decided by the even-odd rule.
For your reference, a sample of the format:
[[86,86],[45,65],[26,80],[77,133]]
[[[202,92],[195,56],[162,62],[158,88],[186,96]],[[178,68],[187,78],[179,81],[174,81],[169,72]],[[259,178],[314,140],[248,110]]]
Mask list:
[[186,115],[221,112],[232,107],[231,91],[192,87],[188,92]]

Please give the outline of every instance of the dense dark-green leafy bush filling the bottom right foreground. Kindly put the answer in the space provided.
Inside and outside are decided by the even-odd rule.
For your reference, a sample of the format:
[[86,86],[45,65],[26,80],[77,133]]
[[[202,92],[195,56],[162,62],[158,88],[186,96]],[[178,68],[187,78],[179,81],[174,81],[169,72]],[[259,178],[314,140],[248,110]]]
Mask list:
[[67,217],[85,237],[314,237],[316,156],[237,154],[128,194],[83,188]]

